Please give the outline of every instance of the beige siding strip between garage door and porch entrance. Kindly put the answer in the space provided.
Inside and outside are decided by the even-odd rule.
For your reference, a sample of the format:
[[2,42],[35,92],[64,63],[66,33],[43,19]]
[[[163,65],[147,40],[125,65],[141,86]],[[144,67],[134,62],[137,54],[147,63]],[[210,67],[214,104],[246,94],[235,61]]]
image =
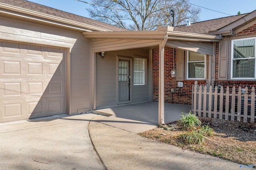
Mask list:
[[90,41],[78,39],[70,51],[71,58],[71,113],[90,105]]

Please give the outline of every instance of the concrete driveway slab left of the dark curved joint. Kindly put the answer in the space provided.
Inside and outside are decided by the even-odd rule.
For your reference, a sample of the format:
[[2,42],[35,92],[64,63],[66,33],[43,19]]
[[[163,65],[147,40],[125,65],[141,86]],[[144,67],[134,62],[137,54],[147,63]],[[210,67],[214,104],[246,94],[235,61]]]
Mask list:
[[0,170],[103,170],[87,130],[95,116],[1,123]]

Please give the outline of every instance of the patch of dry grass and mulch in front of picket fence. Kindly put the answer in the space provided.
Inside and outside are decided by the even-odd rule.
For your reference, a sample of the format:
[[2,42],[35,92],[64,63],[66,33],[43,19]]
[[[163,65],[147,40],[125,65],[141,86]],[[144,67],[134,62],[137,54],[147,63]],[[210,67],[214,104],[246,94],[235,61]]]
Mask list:
[[215,131],[214,136],[208,137],[209,140],[205,140],[205,144],[182,143],[176,136],[184,131],[177,126],[174,130],[156,128],[140,133],[140,135],[194,152],[217,156],[239,164],[256,165],[256,123],[246,124],[210,118],[201,121],[210,125]]

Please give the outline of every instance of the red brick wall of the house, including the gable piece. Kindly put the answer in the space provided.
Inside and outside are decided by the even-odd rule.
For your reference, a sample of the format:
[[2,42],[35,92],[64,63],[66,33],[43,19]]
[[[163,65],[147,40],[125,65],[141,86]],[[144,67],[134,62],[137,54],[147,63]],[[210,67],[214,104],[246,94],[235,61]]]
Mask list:
[[[256,36],[256,24],[251,26],[250,28],[239,32],[235,36],[248,36],[255,35]],[[230,44],[228,44],[230,47]],[[230,50],[230,48],[228,48]],[[175,51],[175,61],[174,61],[174,51]],[[228,51],[229,55],[230,51]],[[227,86],[232,88],[233,86],[242,88],[248,87],[249,91],[252,86],[256,86],[256,81],[220,81],[218,80],[218,57],[219,57],[219,44],[216,43],[216,60],[215,60],[215,81],[214,85],[222,85],[226,89]],[[177,87],[176,78],[172,78],[170,76],[170,71],[172,69],[176,69],[174,62],[176,63],[176,50],[173,48],[165,48],[164,49],[164,102],[166,103],[179,103],[179,104],[188,104],[191,105],[191,97],[192,97],[192,86],[194,81],[192,80],[184,80],[183,87]],[[230,61],[228,61],[230,63]],[[185,65],[185,60],[184,60]],[[230,65],[228,65],[229,69]],[[159,49],[154,49],[153,51],[153,101],[158,101],[158,74],[159,74]],[[184,69],[184,77],[185,77],[185,69]],[[199,85],[204,85],[205,81],[198,81]],[[171,92],[171,89],[174,89],[174,93]]]

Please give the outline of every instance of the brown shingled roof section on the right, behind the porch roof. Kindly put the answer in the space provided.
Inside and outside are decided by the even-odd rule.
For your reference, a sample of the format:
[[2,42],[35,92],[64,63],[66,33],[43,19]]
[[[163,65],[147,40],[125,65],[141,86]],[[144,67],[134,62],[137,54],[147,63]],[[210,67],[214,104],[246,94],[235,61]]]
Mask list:
[[210,31],[219,30],[236,20],[246,16],[247,14],[218,18],[214,20],[207,20],[202,22],[196,22],[191,24],[190,26],[178,26],[175,27],[175,31],[178,32],[189,32],[189,33],[197,33],[197,34],[208,34]]

